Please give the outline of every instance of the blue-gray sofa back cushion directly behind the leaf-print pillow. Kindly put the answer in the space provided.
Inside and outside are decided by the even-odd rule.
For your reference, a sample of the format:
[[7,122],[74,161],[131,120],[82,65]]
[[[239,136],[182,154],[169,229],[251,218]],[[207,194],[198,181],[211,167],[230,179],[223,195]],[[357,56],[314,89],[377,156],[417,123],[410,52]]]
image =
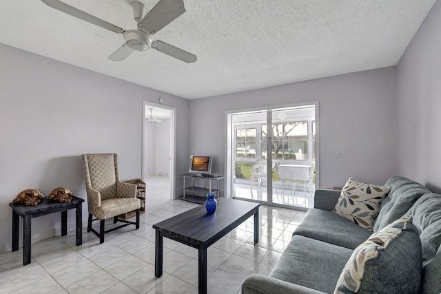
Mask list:
[[394,176],[387,180],[387,187],[391,191],[380,205],[380,213],[373,224],[373,231],[380,231],[394,220],[404,216],[413,205],[425,193],[430,193],[429,189],[409,180],[408,178]]

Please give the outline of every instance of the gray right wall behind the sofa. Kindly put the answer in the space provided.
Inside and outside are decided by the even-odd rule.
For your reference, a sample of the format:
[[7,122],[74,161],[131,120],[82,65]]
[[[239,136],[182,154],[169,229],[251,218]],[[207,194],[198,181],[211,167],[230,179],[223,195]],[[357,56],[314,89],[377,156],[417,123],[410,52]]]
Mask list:
[[441,2],[397,67],[398,173],[441,193]]

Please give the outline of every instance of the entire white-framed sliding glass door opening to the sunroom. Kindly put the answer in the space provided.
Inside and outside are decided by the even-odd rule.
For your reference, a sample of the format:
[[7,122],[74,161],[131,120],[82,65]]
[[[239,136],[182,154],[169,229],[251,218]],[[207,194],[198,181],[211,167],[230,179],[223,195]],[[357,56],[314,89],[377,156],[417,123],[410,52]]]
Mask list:
[[241,200],[313,207],[318,102],[227,113],[227,191]]

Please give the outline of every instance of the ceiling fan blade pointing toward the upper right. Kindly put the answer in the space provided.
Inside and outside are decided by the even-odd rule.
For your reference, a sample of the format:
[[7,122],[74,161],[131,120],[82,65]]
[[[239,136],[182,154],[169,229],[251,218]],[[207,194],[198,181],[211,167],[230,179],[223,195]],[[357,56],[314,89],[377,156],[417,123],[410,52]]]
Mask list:
[[185,12],[183,0],[159,0],[138,24],[139,30],[154,34]]

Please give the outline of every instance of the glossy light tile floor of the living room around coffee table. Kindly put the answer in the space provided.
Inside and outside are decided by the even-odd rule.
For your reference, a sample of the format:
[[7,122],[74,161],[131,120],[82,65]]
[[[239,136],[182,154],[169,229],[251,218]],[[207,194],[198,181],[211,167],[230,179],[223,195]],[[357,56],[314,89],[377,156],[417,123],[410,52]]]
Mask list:
[[[168,178],[148,177],[146,213],[141,227],[107,233],[105,242],[83,229],[32,244],[32,259],[23,251],[0,253],[0,293],[198,293],[197,251],[164,238],[163,276],[154,277],[152,224],[198,204],[169,200]],[[209,247],[209,293],[240,293],[250,273],[269,274],[305,216],[304,211],[260,206],[260,242],[254,244],[253,218]],[[112,222],[106,224],[112,226]]]

